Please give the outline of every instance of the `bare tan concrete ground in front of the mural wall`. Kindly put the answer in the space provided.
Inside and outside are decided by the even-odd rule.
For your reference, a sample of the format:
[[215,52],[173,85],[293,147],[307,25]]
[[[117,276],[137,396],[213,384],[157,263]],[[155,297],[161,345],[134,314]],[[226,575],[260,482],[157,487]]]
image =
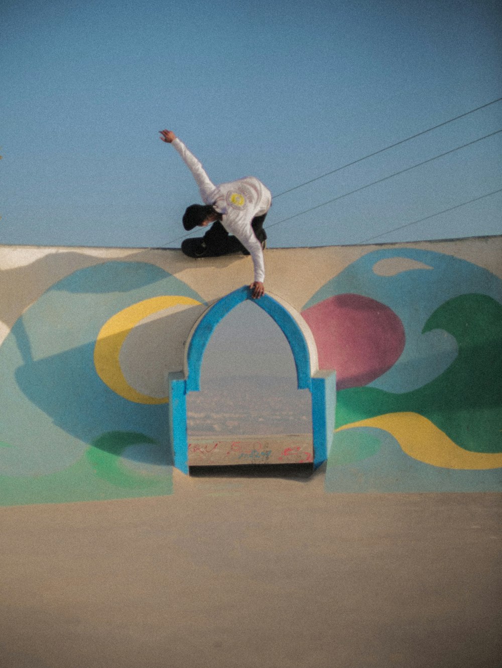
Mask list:
[[495,668],[501,494],[326,494],[322,470],[2,508],[3,668]]

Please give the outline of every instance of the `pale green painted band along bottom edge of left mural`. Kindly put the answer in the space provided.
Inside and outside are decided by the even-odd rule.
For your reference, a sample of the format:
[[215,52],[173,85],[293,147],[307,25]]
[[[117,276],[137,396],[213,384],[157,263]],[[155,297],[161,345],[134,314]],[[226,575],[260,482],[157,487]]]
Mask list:
[[0,476],[0,506],[108,501],[172,494],[172,469],[155,476],[150,487],[119,487],[96,476],[82,457],[64,471],[47,476]]

